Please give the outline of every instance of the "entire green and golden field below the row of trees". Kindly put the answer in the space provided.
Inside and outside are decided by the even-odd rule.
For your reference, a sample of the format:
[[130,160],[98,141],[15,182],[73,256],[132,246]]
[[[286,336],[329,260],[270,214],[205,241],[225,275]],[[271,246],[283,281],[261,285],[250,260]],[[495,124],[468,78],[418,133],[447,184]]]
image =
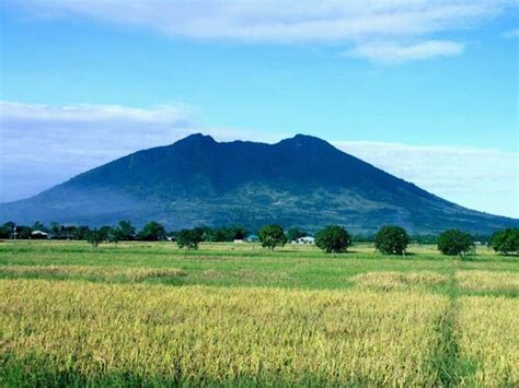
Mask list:
[[519,258],[0,243],[0,386],[519,385]]

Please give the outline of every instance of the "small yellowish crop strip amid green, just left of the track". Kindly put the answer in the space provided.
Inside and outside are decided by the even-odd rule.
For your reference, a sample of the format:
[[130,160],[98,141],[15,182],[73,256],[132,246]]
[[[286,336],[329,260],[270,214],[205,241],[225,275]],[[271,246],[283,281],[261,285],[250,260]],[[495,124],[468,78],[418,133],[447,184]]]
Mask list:
[[359,289],[394,291],[443,284],[448,278],[435,272],[369,272],[351,278]]

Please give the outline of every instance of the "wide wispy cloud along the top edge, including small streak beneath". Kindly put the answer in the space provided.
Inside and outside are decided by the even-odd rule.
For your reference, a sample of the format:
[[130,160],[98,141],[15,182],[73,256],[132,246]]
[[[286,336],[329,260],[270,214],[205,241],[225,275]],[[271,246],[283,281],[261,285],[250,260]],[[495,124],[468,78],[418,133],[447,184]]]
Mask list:
[[[174,37],[244,43],[336,43],[402,61],[461,51],[434,36],[471,28],[516,9],[514,0],[10,0],[35,15],[77,15]],[[405,46],[404,43],[413,42]],[[378,49],[380,51],[380,49]]]

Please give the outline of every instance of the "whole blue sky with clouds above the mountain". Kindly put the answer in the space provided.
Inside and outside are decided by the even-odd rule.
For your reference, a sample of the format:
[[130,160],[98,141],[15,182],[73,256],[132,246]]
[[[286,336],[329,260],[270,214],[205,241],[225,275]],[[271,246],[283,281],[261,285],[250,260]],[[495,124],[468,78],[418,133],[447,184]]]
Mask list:
[[519,217],[519,2],[2,0],[0,202],[193,132]]

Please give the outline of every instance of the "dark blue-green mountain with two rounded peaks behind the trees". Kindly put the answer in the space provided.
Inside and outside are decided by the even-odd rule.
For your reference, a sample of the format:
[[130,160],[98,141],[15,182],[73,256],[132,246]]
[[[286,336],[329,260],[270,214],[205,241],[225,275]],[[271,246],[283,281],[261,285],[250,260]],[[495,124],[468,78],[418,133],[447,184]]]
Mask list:
[[0,205],[2,222],[101,225],[123,219],[137,225],[154,220],[169,228],[279,223],[315,231],[342,224],[354,233],[397,224],[416,234],[519,225],[446,201],[302,134],[276,144],[192,134]]

